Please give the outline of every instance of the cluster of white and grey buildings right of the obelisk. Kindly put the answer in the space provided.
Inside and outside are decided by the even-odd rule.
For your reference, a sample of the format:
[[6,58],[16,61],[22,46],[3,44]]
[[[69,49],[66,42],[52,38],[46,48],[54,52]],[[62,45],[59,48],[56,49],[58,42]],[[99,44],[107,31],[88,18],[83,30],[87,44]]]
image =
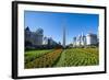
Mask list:
[[73,37],[73,47],[86,46],[86,45],[97,45],[98,38],[96,34],[89,33],[86,36],[82,33],[77,37]]

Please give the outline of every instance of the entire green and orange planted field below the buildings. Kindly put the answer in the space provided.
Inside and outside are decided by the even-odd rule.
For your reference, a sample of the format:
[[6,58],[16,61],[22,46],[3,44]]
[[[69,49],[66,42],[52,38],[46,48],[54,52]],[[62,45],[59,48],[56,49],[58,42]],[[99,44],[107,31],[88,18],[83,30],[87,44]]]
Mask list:
[[25,68],[99,65],[98,48],[70,48],[25,52]]

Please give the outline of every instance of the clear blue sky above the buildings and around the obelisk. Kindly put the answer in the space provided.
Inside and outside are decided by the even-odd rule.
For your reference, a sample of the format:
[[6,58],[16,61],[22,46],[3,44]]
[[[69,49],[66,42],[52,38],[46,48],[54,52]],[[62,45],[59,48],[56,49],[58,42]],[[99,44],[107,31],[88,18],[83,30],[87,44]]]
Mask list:
[[73,42],[73,37],[82,33],[98,33],[99,15],[83,13],[56,13],[25,11],[24,26],[32,32],[37,28],[44,30],[44,36],[52,37],[56,42],[62,43],[62,27],[65,27],[66,44]]

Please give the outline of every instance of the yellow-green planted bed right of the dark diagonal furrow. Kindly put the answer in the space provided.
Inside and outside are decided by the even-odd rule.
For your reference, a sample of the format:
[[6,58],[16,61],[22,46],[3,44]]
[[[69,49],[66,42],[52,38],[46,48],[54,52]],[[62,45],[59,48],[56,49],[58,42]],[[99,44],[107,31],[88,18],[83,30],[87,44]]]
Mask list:
[[65,49],[55,67],[94,66],[99,64],[97,48]]

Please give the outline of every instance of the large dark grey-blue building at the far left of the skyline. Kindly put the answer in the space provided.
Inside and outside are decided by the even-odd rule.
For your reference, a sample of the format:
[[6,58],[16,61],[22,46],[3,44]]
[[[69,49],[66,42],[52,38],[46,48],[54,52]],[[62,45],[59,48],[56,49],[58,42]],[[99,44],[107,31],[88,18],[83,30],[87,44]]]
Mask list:
[[38,28],[36,32],[32,32],[28,26],[25,28],[25,42],[26,44],[29,43],[28,46],[29,45],[36,45],[36,46],[43,45],[43,37],[44,37],[43,28]]

